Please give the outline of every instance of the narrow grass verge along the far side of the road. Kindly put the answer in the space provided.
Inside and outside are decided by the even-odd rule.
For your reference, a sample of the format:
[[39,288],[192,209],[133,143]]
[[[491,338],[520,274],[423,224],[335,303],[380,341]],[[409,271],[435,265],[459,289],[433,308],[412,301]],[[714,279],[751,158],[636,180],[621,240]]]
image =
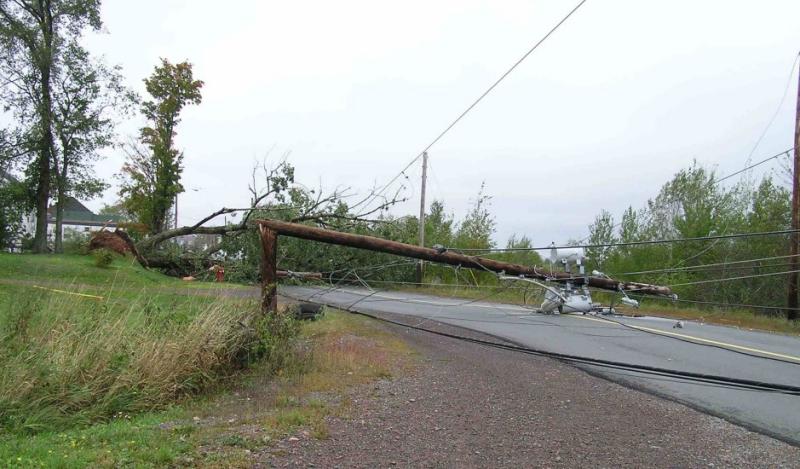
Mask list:
[[[541,289],[532,286],[525,289],[521,287],[507,287],[499,285],[493,288],[465,288],[465,287],[408,287],[402,291],[412,293],[426,293],[431,295],[463,298],[466,300],[483,299],[518,305],[537,307],[541,304]],[[595,302],[608,305],[610,296],[607,293],[592,293]],[[763,331],[780,332],[784,334],[800,335],[800,321],[789,321],[784,317],[758,314],[749,309],[729,309],[709,307],[706,309],[692,308],[669,304],[667,301],[657,299],[641,300],[641,307],[633,309],[626,306],[615,306],[620,313],[626,315],[649,314],[675,319],[695,320],[709,324],[738,327],[742,329],[757,329]]]

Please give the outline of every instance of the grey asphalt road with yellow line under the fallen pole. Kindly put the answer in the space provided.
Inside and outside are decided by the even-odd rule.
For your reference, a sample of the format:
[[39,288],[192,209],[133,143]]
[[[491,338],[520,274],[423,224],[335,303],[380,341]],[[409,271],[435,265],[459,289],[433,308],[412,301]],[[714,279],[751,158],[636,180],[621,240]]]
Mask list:
[[[800,386],[800,338],[658,317],[543,315],[516,305],[405,292],[282,287],[287,296],[363,312],[436,320],[532,348],[639,365]],[[646,305],[643,308],[646,311]],[[666,334],[659,335],[659,334]],[[682,402],[800,445],[800,397],[583,366],[604,378]]]

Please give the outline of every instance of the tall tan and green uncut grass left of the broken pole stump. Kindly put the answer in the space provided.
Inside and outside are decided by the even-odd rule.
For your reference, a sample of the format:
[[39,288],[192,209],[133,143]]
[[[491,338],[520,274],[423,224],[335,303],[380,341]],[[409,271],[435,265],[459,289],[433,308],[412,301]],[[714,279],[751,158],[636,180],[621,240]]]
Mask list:
[[[8,292],[8,291],[6,291]],[[36,432],[162,408],[251,361],[278,360],[289,321],[252,300],[0,297],[0,427]]]

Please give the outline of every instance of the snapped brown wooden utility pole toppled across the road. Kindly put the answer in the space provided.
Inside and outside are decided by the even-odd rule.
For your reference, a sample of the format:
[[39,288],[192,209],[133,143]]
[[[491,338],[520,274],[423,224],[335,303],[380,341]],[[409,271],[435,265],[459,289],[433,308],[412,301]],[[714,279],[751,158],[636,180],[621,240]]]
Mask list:
[[[436,249],[412,246],[410,244],[398,243],[386,239],[375,238],[373,236],[356,235],[342,233],[339,231],[326,230],[313,226],[301,225],[298,223],[288,223],[277,220],[258,220],[259,227],[272,230],[279,235],[291,236],[293,238],[307,239],[321,243],[338,244],[353,248],[378,251],[397,256],[411,257],[440,264],[461,266],[469,269],[490,271],[495,273],[505,273],[505,275],[516,275],[527,278],[545,281],[566,281],[569,280],[576,285],[584,283],[583,277],[575,277],[567,272],[549,272],[536,266],[526,266],[512,264],[484,257],[467,256],[455,252],[440,252]],[[626,292],[636,292],[646,295],[671,296],[672,290],[669,287],[649,285],[646,283],[621,282],[606,277],[588,277],[587,285],[603,290]]]

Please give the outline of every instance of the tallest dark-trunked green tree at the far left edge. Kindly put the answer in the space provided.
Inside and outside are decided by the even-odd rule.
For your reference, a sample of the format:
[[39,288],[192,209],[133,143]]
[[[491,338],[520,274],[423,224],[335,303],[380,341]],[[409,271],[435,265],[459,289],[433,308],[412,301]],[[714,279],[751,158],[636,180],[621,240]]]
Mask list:
[[56,149],[53,85],[64,46],[86,28],[99,29],[99,0],[0,0],[3,102],[35,143],[27,174],[35,186],[33,250],[47,250],[47,205]]

